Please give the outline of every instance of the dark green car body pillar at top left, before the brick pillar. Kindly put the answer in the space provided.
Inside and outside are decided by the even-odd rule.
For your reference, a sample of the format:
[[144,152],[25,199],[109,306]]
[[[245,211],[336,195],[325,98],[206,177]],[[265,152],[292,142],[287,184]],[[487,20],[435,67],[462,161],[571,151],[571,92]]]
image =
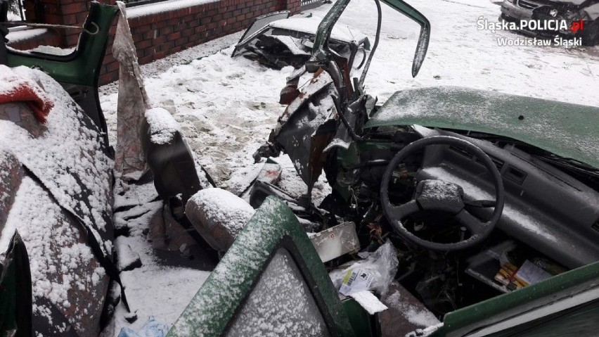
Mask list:
[[88,87],[98,87],[98,79],[112,21],[117,15],[117,6],[109,6],[92,1],[89,15],[84,27],[97,34],[82,32],[77,49],[67,56],[50,56],[41,53],[8,50],[8,66],[25,65],[39,68],[48,73],[54,80],[63,84],[79,84]]

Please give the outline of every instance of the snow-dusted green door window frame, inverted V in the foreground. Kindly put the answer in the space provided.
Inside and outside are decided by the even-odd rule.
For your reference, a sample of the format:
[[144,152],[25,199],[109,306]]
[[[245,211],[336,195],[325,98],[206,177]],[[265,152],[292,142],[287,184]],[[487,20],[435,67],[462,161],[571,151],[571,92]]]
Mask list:
[[[286,243],[285,243],[286,242]],[[282,201],[269,197],[239,234],[167,336],[222,336],[273,252],[289,244],[332,336],[355,336],[318,253]],[[286,247],[289,248],[289,247]],[[305,274],[304,274],[305,273]]]

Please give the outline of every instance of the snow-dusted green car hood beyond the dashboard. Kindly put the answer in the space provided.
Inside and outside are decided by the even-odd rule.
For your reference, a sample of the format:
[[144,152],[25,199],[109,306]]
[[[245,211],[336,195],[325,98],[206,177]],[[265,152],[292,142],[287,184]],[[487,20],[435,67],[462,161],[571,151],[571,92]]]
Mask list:
[[495,91],[397,91],[366,128],[422,125],[505,136],[599,168],[599,108]]

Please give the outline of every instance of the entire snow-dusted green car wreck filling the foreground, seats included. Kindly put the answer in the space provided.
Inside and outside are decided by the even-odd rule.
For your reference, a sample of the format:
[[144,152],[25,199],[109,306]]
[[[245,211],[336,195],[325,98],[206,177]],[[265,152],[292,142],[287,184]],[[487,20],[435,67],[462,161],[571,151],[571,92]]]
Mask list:
[[[382,2],[420,25],[416,76],[430,22]],[[96,89],[89,76],[53,80],[18,67],[46,61],[9,50],[0,331],[97,336],[119,300],[127,306],[119,275],[143,252],[120,239],[135,234],[162,263],[212,270],[167,336],[593,336],[599,108],[460,87],[397,91],[380,106],[364,86],[380,3],[360,69],[330,43],[348,3],[318,23],[288,77],[287,108],[255,154],[264,170],[243,198],[215,187],[167,110],[141,102],[140,139],[129,140],[148,169],[113,170],[101,111],[55,81]],[[93,39],[105,42],[116,12],[94,3],[89,20],[104,24]],[[130,75],[124,94],[143,88]],[[306,184],[301,198],[278,186],[281,153]],[[332,192],[314,205],[323,173]]]

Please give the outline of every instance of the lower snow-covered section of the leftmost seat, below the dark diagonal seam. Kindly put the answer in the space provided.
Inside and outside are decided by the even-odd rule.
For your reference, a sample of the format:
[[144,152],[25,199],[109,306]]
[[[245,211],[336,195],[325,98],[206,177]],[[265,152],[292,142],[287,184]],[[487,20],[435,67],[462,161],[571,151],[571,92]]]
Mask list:
[[[39,184],[29,178],[23,180],[21,189],[39,197],[36,203],[56,203]],[[15,204],[28,202],[19,201],[20,197],[26,198],[27,195],[17,196]],[[58,205],[53,206],[53,210],[56,209],[59,209]],[[32,213],[35,212],[32,210]],[[108,275],[91,249],[88,253],[79,253],[82,246],[87,245],[87,238],[77,221],[64,210],[52,214],[52,217],[26,212],[11,215],[11,220],[16,222],[22,234],[30,263],[47,262],[44,268],[32,269],[36,272],[32,272],[32,328],[36,336],[98,336],[108,291]],[[27,227],[41,221],[46,222],[44,229],[47,230],[31,230],[34,234],[29,234]],[[44,245],[43,249],[39,248],[40,244]],[[49,257],[38,255],[41,250]]]

